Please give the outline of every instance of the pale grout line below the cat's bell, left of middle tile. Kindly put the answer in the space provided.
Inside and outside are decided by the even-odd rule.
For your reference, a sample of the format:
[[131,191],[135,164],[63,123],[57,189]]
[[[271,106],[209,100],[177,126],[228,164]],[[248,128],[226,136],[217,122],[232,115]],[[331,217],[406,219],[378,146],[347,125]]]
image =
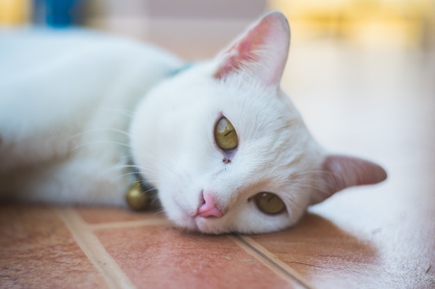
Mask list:
[[129,277],[122,271],[116,261],[108,254],[99,239],[92,232],[92,228],[83,221],[74,209],[55,209],[58,216],[71,232],[74,240],[85,253],[94,267],[106,280],[109,288],[133,289],[136,286],[131,283]]

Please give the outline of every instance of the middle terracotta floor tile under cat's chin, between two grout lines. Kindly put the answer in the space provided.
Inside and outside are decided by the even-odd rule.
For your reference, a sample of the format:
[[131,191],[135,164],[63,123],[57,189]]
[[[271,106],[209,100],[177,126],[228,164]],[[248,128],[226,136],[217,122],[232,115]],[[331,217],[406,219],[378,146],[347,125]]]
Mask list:
[[170,226],[95,234],[138,288],[300,288],[227,236],[186,234]]

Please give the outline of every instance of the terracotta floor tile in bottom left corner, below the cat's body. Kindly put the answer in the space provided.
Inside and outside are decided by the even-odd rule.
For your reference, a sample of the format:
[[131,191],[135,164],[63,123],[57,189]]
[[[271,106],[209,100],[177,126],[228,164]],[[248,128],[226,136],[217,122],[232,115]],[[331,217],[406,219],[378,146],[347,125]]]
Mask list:
[[49,207],[0,207],[0,288],[107,288]]

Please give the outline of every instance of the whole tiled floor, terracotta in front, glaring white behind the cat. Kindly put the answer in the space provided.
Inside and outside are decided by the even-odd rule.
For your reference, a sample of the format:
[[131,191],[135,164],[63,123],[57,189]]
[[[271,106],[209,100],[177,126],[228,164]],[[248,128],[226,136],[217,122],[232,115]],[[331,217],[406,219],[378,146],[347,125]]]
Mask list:
[[[1,204],[0,288],[435,288],[434,54],[294,33],[284,89],[320,143],[378,161],[386,182],[258,236],[187,234],[156,212]],[[178,51],[219,49],[192,47]]]

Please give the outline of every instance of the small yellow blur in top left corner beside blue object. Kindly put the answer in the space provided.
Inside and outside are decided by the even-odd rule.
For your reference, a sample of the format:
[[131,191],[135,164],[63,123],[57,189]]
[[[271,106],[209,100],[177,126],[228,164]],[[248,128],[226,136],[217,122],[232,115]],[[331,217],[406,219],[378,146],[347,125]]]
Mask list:
[[30,0],[0,0],[0,25],[25,23],[30,17]]

